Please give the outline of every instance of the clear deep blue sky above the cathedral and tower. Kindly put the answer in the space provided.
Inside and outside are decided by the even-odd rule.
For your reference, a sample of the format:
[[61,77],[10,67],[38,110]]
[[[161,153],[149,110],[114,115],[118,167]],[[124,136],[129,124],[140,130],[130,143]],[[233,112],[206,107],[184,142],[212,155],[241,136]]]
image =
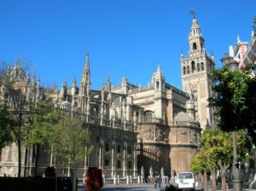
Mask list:
[[160,64],[166,81],[181,88],[180,53],[189,50],[195,10],[208,54],[217,67],[229,45],[250,39],[256,0],[1,0],[0,61],[36,72],[44,84],[75,76],[90,53],[92,88],[146,85]]

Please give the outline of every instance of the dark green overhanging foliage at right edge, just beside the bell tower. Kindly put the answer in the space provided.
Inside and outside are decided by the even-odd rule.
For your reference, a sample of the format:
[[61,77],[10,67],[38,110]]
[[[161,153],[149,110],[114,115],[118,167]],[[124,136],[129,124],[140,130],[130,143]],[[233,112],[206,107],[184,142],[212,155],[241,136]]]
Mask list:
[[255,65],[244,72],[230,71],[228,67],[214,69],[212,79],[215,96],[209,99],[215,107],[215,116],[221,130],[244,130],[256,144],[256,80],[252,76]]

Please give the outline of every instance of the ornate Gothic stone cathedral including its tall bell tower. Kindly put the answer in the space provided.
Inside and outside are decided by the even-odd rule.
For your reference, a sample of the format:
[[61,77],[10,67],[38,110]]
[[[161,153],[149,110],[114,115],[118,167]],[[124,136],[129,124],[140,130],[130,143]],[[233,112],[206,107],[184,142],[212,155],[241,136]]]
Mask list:
[[[212,108],[207,107],[207,98],[212,96],[214,60],[207,55],[195,18],[189,32],[189,55],[181,55],[180,61],[183,90],[166,82],[160,66],[145,87],[123,77],[119,85],[113,86],[108,78],[101,90],[92,90],[89,54],[85,56],[81,82],[74,78],[71,87],[64,82],[60,91],[41,88],[40,81],[36,83],[35,78],[22,72],[19,63],[10,72],[18,82],[24,82],[27,99],[38,101],[42,95],[49,96],[56,108],[83,115],[83,126],[91,131],[94,149],[75,165],[76,177],[83,177],[89,166],[101,168],[109,178],[137,177],[142,169],[144,176],[150,171],[171,176],[174,171],[189,171],[201,130],[214,127]],[[15,144],[2,149],[0,173],[15,176],[16,149]],[[27,174],[32,174],[34,167],[32,152],[28,152]],[[42,155],[38,174],[51,165],[61,175],[54,156]],[[22,161],[25,168],[24,157]]]

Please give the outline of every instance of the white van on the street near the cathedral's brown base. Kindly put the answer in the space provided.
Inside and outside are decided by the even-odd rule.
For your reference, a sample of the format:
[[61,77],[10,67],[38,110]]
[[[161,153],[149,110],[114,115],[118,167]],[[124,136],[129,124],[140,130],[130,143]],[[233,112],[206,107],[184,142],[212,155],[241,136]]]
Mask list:
[[195,190],[195,178],[191,171],[177,172],[176,177],[177,188],[183,190]]

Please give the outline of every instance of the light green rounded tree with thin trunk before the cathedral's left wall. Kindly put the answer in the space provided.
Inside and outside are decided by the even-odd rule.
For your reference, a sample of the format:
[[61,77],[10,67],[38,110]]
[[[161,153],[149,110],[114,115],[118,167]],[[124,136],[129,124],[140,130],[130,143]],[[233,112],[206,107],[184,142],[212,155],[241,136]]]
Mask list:
[[85,130],[82,124],[76,117],[62,117],[56,125],[51,142],[55,157],[67,164],[70,176],[73,176],[74,163],[84,159],[93,149],[90,144],[90,131]]

